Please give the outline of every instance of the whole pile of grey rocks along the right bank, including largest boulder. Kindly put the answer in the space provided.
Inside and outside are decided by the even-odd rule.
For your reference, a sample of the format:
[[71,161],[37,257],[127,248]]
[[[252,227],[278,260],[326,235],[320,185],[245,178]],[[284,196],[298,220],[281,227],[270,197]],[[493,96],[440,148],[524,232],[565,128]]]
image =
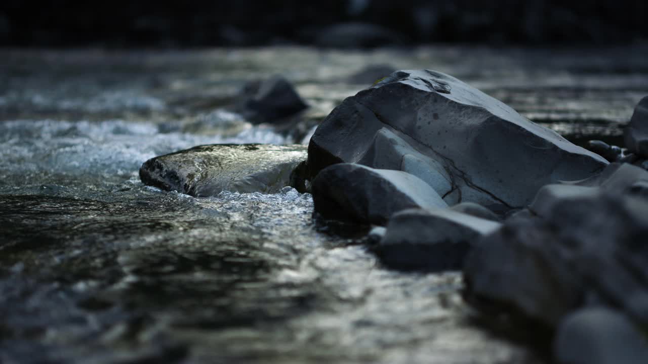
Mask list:
[[463,269],[469,302],[555,332],[561,363],[643,363],[647,102],[627,150],[590,144],[603,158],[456,78],[397,71],[310,139],[315,209],[380,225],[384,266]]

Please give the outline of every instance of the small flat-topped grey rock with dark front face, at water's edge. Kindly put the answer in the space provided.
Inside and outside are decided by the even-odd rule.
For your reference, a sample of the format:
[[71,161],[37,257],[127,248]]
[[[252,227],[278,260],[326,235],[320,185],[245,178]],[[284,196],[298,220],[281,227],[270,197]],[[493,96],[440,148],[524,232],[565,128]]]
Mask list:
[[500,223],[450,209],[408,209],[394,214],[376,247],[385,266],[406,271],[463,268],[472,244]]

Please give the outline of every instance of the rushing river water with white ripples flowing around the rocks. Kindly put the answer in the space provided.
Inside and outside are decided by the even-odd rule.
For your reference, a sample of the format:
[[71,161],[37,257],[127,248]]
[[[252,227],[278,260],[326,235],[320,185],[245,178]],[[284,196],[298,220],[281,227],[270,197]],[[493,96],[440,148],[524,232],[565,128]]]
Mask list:
[[383,269],[365,231],[315,221],[308,194],[192,198],[137,171],[198,144],[300,142],[222,107],[283,73],[317,121],[376,63],[445,71],[574,141],[615,141],[648,95],[647,55],[2,51],[0,362],[539,362],[474,324],[459,273]]

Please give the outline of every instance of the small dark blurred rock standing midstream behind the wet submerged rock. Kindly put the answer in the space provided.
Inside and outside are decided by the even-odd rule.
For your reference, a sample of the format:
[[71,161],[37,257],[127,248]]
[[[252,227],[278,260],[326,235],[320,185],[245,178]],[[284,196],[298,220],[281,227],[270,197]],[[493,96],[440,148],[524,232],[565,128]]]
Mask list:
[[241,92],[235,111],[254,123],[275,123],[308,108],[294,87],[282,76],[249,82]]

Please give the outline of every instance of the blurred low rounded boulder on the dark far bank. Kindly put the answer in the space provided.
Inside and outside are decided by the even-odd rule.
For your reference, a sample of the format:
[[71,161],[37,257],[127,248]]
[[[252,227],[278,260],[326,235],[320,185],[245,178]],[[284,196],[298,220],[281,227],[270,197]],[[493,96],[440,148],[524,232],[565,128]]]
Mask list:
[[319,47],[356,49],[400,45],[403,38],[380,25],[340,23],[321,30],[315,43]]

